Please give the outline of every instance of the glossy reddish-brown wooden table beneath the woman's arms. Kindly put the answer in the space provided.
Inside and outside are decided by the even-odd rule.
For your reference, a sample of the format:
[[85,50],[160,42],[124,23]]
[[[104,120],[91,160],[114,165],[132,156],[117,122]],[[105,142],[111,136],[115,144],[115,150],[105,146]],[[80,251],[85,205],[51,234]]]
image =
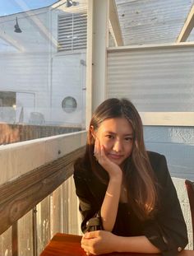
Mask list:
[[[159,256],[159,254],[132,254],[113,253],[103,254],[104,256]],[[101,256],[103,256],[101,254]],[[39,256],[86,256],[81,249],[81,235],[67,235],[58,233],[45,247]],[[183,250],[178,256],[194,256],[194,251]]]

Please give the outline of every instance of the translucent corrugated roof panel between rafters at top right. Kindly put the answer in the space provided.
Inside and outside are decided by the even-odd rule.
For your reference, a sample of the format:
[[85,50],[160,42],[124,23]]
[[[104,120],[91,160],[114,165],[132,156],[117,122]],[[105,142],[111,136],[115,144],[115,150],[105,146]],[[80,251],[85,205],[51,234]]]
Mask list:
[[194,1],[116,0],[116,3],[124,45],[136,45],[175,42]]

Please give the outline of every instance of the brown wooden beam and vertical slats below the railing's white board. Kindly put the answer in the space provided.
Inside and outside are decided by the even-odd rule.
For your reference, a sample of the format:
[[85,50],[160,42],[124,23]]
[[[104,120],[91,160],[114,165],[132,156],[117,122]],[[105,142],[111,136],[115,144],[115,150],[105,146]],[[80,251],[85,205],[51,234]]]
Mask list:
[[[71,177],[73,163],[83,150],[84,147],[76,149],[0,186],[0,255],[39,255],[50,235],[67,231],[67,226],[62,230],[62,225],[65,226],[68,216],[56,216],[65,212],[56,209],[62,205],[57,201],[64,198],[64,182]],[[61,194],[56,189],[61,190]],[[43,211],[45,205],[46,211]],[[46,218],[42,216],[45,214]],[[57,226],[56,217],[63,220]],[[45,231],[48,234],[43,234]],[[27,244],[29,248],[26,249]]]

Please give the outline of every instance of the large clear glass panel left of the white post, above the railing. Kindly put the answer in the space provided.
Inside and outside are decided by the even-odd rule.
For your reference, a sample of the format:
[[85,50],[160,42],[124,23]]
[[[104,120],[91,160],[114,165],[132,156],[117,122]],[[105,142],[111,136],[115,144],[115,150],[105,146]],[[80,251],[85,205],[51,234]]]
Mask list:
[[85,128],[86,3],[0,3],[0,145]]

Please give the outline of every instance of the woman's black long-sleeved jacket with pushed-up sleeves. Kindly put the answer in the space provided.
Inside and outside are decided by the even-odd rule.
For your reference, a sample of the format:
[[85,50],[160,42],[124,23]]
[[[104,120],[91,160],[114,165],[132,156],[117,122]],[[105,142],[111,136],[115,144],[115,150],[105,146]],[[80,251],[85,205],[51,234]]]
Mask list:
[[[119,202],[113,234],[146,235],[150,242],[162,251],[162,255],[174,256],[187,245],[187,227],[165,157],[155,152],[148,154],[160,188],[159,206],[155,216],[151,220],[140,221],[127,203]],[[81,230],[85,232],[86,222],[100,211],[107,185],[103,184],[91,170],[77,165],[74,170],[74,181],[83,219]]]

